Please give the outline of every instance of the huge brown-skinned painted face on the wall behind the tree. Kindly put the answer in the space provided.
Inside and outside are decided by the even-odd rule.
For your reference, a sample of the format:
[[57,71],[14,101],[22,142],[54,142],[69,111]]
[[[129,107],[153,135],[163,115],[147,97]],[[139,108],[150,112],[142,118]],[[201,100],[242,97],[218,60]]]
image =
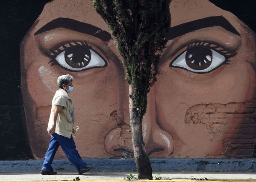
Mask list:
[[[256,138],[254,33],[207,0],[200,6],[175,1],[170,10],[169,41],[143,120],[148,154],[250,157]],[[129,88],[113,43],[90,0],[44,6],[21,43],[22,94],[35,157],[47,150],[50,103],[62,74],[71,74],[76,85],[71,97],[79,154],[129,155]]]

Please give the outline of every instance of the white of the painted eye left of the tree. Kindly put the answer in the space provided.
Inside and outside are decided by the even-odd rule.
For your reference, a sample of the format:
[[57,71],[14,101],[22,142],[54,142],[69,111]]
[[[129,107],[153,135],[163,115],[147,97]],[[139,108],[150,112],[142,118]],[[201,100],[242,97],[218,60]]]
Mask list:
[[[59,55],[57,55],[56,57],[56,61],[62,65],[64,68],[67,68],[71,71],[82,71],[86,68],[92,68],[92,67],[102,67],[104,66],[106,63],[105,61],[97,54],[95,53],[93,50],[90,49],[91,52],[91,61],[90,63],[83,67],[83,68],[72,68],[70,65],[68,65],[65,61],[65,51],[61,52]],[[70,55],[70,54],[68,54]],[[73,56],[73,55],[72,55]]]

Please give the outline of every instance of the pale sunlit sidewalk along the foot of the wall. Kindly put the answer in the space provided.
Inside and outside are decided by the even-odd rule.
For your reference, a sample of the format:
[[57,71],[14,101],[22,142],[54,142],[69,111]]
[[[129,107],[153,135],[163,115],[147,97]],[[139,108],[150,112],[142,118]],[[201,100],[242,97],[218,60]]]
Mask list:
[[[137,176],[136,172],[127,171],[127,172],[109,172],[109,171],[90,171],[83,175],[79,175],[77,171],[57,171],[57,175],[41,175],[38,173],[0,173],[0,182],[1,181],[72,181],[77,176],[82,181],[124,181],[124,176],[129,175],[130,173]],[[156,174],[160,174],[160,176],[164,179],[171,179],[172,182],[174,181],[192,181],[191,178],[196,179],[204,179],[207,178],[209,181],[214,180],[215,182],[256,182],[256,173],[255,172],[153,172],[153,176]],[[143,180],[144,181],[144,180]],[[140,181],[140,182],[143,182]],[[170,180],[168,180],[170,181]],[[152,181],[151,181],[152,182]],[[160,182],[160,181],[158,181]]]

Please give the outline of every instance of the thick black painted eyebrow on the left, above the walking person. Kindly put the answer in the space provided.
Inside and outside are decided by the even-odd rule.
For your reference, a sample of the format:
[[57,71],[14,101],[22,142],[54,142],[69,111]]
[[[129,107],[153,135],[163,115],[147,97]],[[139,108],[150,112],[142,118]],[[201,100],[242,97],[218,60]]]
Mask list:
[[71,29],[84,34],[92,35],[103,41],[109,41],[111,39],[111,35],[107,31],[102,30],[99,27],[69,18],[56,18],[44,25],[38,31],[36,31],[34,35],[41,34],[45,31],[53,30],[55,28]]

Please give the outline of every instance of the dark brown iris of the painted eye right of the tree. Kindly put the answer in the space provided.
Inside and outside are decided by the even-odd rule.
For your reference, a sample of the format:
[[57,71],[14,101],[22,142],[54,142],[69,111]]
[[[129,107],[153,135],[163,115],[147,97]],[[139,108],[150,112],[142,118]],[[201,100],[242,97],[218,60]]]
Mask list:
[[206,47],[189,48],[185,60],[194,70],[204,70],[212,64],[212,51]]

